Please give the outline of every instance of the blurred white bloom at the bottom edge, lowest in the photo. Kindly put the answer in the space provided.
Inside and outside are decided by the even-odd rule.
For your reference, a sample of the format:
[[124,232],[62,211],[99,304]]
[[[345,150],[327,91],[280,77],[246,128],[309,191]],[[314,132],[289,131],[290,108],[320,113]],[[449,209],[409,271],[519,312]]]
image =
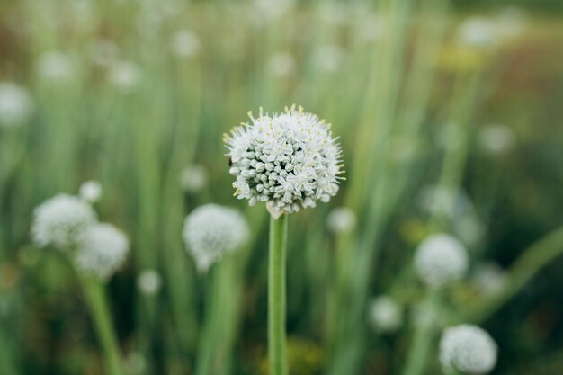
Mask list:
[[440,362],[444,371],[471,375],[486,374],[496,365],[498,348],[487,331],[472,325],[446,328],[440,341]]

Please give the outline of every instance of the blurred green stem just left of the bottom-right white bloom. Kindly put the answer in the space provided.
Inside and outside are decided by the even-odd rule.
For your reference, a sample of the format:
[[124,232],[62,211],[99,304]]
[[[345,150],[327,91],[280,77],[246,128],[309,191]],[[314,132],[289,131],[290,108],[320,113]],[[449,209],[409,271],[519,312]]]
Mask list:
[[436,333],[436,321],[440,314],[440,306],[440,291],[430,291],[428,297],[423,302],[423,317],[416,326],[403,375],[424,374],[428,357],[432,353],[433,338]]

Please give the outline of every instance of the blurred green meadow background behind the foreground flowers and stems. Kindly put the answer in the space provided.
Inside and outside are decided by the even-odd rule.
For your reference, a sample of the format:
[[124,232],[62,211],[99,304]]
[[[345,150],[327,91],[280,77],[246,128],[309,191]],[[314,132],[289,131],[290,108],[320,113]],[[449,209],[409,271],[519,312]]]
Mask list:
[[[97,180],[131,241],[107,285],[127,371],[265,374],[268,217],[232,197],[221,138],[292,103],[333,124],[347,170],[290,217],[292,375],[401,372],[412,254],[435,231],[471,257],[444,326],[485,327],[494,374],[563,373],[563,256],[524,258],[495,297],[563,222],[562,20],[556,0],[2,2],[0,373],[103,373],[74,271],[30,239],[34,207]],[[253,239],[202,275],[181,233],[209,202]],[[381,295],[393,332],[374,327]]]

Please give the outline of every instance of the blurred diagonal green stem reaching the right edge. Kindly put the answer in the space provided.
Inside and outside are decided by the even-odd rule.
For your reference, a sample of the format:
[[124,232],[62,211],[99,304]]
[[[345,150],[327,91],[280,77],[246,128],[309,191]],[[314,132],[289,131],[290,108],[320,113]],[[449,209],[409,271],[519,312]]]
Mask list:
[[507,272],[503,288],[469,311],[469,321],[480,323],[503,307],[541,268],[563,254],[563,227],[557,228],[524,250]]

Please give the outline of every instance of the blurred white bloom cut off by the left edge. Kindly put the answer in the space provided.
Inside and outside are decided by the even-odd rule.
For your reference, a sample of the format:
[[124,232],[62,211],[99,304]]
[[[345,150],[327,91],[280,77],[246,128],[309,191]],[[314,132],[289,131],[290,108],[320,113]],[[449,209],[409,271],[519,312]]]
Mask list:
[[0,82],[0,128],[21,125],[33,111],[31,95],[21,85]]

